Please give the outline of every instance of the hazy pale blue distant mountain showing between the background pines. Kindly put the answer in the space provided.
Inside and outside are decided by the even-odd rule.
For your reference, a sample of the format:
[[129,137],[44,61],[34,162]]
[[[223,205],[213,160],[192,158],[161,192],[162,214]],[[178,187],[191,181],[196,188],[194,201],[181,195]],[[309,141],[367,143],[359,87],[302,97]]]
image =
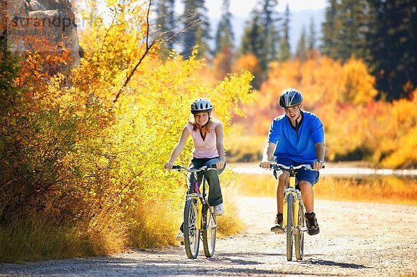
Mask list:
[[[290,22],[290,46],[291,52],[294,53],[297,48],[297,42],[300,40],[300,34],[302,26],[305,26],[307,34],[309,33],[310,21],[313,17],[316,27],[318,45],[321,44],[320,39],[322,22],[325,21],[325,9],[318,10],[300,10],[299,12],[291,12]],[[234,28],[235,46],[240,47],[240,41],[242,40],[243,31],[245,30],[245,22],[248,18],[245,17],[233,17],[232,25]],[[215,37],[215,31],[217,30],[219,19],[211,18],[211,34]]]

